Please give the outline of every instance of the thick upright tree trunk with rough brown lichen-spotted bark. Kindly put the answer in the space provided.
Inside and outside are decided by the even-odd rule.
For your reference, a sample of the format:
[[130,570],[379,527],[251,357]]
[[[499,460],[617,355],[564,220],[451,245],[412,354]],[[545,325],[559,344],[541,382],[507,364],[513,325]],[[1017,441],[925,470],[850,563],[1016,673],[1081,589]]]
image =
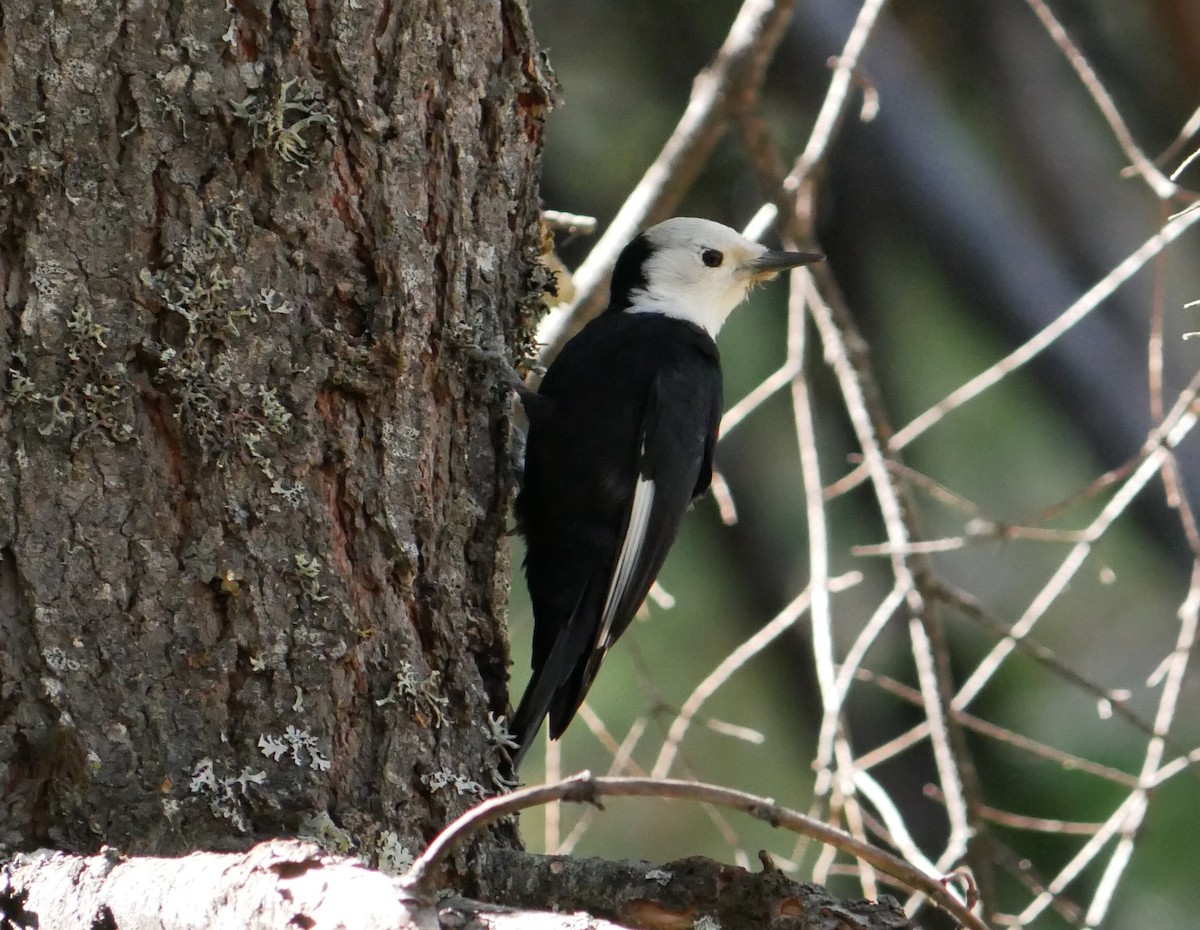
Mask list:
[[396,864],[497,790],[460,347],[527,338],[550,94],[517,0],[5,0],[0,846]]

